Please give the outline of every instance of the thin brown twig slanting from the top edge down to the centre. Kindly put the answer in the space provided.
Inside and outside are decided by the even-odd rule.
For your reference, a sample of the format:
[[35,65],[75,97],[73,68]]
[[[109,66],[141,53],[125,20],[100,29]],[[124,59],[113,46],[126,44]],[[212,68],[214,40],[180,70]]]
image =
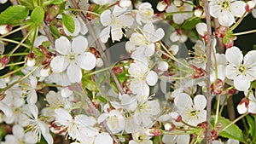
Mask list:
[[[79,5],[75,0],[72,0],[72,3],[73,3],[73,6],[75,7],[75,9],[79,9]],[[90,25],[90,21],[86,18],[86,16],[84,15],[83,12],[79,12],[79,15],[80,15],[81,19],[84,20],[84,23],[86,24],[91,37],[93,37],[93,40],[96,44],[96,49],[99,51],[100,55],[102,56],[102,60],[104,60],[104,62],[106,63],[106,66],[110,66],[111,65],[110,60],[108,60],[108,57],[104,54],[102,45],[99,42],[98,38],[96,37],[96,32],[94,31],[94,27]],[[124,91],[122,85],[119,83],[119,79],[116,77],[113,70],[109,70],[109,72],[110,72],[111,77],[113,78],[113,82],[116,84],[117,88],[119,89],[120,94],[124,95],[125,91]]]

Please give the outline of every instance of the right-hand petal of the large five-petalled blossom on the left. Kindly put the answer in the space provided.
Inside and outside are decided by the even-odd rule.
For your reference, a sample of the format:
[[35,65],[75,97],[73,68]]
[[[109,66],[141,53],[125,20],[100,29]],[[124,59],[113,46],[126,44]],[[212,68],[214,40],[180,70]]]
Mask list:
[[90,52],[79,56],[79,66],[84,70],[91,70],[96,66],[96,57]]

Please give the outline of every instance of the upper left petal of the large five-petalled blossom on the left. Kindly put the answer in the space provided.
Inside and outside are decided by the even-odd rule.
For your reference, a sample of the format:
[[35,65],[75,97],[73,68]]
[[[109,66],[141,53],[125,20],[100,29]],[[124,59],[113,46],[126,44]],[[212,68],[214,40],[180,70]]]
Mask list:
[[61,36],[55,40],[55,49],[61,55],[68,55],[71,52],[71,43],[67,37]]

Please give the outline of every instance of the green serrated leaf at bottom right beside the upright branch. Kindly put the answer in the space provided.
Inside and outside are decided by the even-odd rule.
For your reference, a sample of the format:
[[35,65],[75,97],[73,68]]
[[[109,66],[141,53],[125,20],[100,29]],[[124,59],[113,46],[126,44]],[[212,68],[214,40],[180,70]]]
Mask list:
[[[215,116],[212,116],[211,118],[211,124],[214,123],[214,118]],[[225,128],[227,125],[231,124],[232,122],[229,119],[223,118],[223,117],[218,117],[218,124],[222,125],[222,128]],[[241,142],[245,142],[243,138],[243,134],[239,127],[236,124],[230,125],[227,129],[221,131],[219,133],[220,136],[223,136],[225,138],[231,138],[235,139]]]

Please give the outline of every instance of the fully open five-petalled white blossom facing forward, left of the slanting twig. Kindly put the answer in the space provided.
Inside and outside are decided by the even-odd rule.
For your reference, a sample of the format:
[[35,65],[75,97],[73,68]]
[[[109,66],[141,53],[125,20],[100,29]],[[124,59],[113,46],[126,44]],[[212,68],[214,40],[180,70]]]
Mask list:
[[81,68],[91,70],[96,66],[96,57],[88,49],[88,42],[85,37],[74,37],[72,43],[67,37],[61,36],[55,41],[55,48],[60,55],[55,56],[50,62],[53,72],[67,70],[67,78],[72,83],[77,83],[82,78]]

